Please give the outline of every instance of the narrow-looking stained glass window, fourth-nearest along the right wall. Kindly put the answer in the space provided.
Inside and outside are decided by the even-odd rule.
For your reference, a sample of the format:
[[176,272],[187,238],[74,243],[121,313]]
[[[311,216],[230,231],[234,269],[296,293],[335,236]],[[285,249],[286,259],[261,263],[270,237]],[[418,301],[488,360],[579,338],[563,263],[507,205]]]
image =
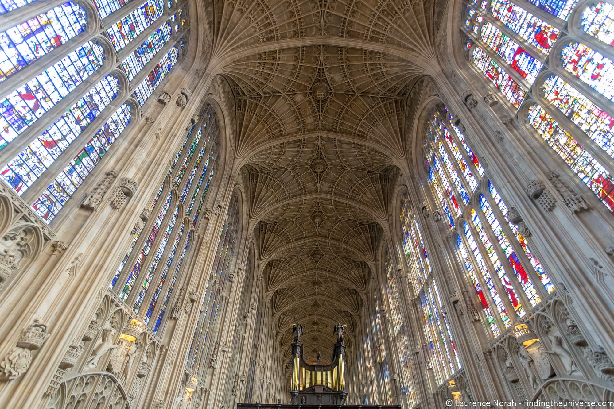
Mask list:
[[401,393],[403,394],[403,399],[406,400],[409,407],[414,407],[418,404],[418,395],[416,394],[416,388],[414,386],[413,378],[411,377],[410,343],[407,338],[407,329],[401,313],[398,287],[392,270],[390,249],[387,246],[384,261],[384,272],[386,273],[386,292],[391,308],[390,314],[392,317],[392,330],[394,331],[394,333],[392,333],[392,339],[395,341],[395,348],[397,349],[395,357],[398,362],[398,367],[401,368],[400,376],[398,376],[398,382],[401,388]]

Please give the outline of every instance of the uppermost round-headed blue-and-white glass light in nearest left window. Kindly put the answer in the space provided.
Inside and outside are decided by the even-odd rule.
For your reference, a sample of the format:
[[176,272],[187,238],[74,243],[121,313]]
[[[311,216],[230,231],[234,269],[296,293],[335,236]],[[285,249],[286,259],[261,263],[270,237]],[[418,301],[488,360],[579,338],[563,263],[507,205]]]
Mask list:
[[0,33],[0,82],[84,31],[86,20],[85,9],[68,1]]

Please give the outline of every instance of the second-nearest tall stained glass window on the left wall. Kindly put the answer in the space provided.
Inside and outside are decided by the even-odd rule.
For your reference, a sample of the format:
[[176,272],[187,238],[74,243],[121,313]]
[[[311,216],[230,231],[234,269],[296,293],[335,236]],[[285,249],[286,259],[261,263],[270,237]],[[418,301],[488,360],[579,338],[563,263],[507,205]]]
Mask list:
[[203,181],[213,174],[216,122],[209,109],[188,132],[149,209],[141,213],[147,224],[134,234],[111,282],[110,287],[154,332],[163,323],[193,240],[193,204],[206,195]]

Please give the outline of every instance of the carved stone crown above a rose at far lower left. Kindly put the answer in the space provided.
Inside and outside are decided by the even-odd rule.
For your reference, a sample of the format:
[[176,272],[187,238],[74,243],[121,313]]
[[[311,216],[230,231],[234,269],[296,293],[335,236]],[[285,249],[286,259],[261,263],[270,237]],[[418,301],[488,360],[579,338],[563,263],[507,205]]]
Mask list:
[[41,349],[47,338],[47,325],[41,324],[40,319],[35,319],[34,324],[21,331],[15,348],[0,362],[0,382],[14,380],[26,373],[32,363],[32,352]]

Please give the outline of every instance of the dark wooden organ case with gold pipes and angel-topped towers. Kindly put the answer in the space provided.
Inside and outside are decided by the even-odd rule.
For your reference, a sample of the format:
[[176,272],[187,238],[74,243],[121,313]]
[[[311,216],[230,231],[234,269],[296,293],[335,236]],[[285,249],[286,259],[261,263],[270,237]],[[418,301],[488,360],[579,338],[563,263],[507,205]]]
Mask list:
[[293,405],[342,405],[348,392],[345,378],[345,348],[343,342],[343,325],[335,325],[337,342],[333,349],[330,365],[317,363],[309,365],[303,359],[303,343],[300,337],[300,324],[292,325],[294,342],[292,343],[292,381],[290,397]]

